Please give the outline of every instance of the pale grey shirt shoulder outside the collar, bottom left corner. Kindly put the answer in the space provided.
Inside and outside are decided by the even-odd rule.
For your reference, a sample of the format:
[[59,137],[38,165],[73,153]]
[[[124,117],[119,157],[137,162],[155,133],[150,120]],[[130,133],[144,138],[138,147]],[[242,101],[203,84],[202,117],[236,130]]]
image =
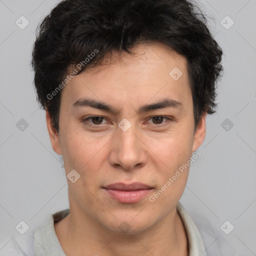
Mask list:
[[0,256],[34,256],[33,246],[34,246],[34,230],[18,234],[12,237],[5,237],[4,243],[0,248]]

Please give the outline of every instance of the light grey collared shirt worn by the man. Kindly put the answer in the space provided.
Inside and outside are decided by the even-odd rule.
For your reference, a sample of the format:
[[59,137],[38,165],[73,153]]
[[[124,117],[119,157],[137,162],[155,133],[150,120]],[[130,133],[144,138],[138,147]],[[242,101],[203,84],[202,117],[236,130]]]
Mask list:
[[[207,256],[200,233],[180,202],[177,203],[177,211],[188,237],[189,256]],[[0,256],[66,256],[56,236],[54,222],[68,213],[69,209],[57,211],[48,217],[46,223],[33,231],[15,235],[0,250]]]

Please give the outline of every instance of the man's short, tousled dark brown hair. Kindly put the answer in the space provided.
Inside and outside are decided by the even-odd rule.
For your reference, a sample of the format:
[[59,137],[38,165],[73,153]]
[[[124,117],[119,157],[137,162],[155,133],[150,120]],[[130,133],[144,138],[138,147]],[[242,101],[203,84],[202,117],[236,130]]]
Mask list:
[[205,14],[188,0],[59,2],[36,28],[31,59],[37,100],[48,110],[56,131],[61,95],[56,88],[70,65],[84,63],[96,49],[97,54],[82,65],[79,74],[99,64],[112,50],[131,53],[135,44],[151,41],[165,43],[187,60],[195,131],[204,112],[215,112],[216,81],[223,68],[222,50],[207,28]]

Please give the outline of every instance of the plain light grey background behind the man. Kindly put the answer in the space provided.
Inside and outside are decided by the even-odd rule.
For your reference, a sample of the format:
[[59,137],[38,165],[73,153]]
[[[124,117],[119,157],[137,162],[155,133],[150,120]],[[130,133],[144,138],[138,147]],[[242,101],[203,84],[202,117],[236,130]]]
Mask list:
[[[0,248],[21,220],[31,230],[68,207],[66,177],[29,66],[35,28],[57,2],[0,0]],[[224,52],[224,74],[218,111],[207,116],[202,155],[190,166],[180,202],[195,223],[209,223],[208,249],[220,243],[223,255],[256,255],[256,0],[198,3],[213,18],[208,24]],[[29,21],[24,29],[15,24],[21,15]],[[227,15],[234,21],[228,29]],[[21,118],[28,123],[23,131],[16,126]],[[229,234],[220,229],[226,220],[234,226]]]

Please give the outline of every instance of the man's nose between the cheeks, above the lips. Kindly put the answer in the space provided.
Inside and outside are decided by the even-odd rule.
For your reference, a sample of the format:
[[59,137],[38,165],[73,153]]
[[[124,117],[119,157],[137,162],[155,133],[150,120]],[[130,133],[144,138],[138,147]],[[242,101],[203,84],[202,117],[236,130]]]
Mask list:
[[143,167],[147,160],[147,147],[141,138],[134,125],[126,131],[118,127],[110,144],[110,164],[124,170]]

